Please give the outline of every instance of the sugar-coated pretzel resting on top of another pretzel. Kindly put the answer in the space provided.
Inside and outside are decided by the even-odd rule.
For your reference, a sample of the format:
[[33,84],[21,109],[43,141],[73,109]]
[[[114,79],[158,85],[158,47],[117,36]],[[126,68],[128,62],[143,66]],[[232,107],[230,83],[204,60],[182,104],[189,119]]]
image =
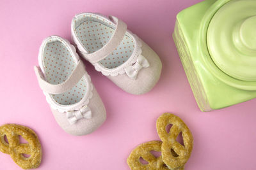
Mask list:
[[[172,124],[170,132],[166,132],[166,126]],[[184,169],[193,149],[193,136],[187,125],[177,116],[164,113],[157,118],[157,133],[163,144],[161,146],[163,162],[172,170]],[[177,141],[182,132],[184,146]]]

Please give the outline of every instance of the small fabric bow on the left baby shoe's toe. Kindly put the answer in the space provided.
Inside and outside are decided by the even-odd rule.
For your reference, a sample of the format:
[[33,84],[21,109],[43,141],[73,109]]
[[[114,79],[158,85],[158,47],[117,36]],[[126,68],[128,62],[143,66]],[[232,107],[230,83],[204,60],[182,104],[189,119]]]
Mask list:
[[76,124],[81,118],[92,118],[92,110],[88,106],[83,106],[80,110],[67,111],[67,119],[70,125]]

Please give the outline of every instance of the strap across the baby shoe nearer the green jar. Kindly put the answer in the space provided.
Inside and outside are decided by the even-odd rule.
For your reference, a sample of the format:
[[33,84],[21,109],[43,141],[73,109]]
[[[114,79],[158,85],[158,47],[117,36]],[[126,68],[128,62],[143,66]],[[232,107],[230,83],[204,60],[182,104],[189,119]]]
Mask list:
[[115,22],[116,29],[113,32],[113,35],[109,39],[108,43],[106,43],[106,45],[104,45],[96,52],[88,54],[83,53],[86,60],[88,60],[92,64],[108,57],[108,55],[111,54],[118,45],[120,45],[120,43],[124,39],[125,32],[127,31],[127,25],[122,22],[122,20],[119,20],[118,18],[113,16],[109,16],[109,18]]

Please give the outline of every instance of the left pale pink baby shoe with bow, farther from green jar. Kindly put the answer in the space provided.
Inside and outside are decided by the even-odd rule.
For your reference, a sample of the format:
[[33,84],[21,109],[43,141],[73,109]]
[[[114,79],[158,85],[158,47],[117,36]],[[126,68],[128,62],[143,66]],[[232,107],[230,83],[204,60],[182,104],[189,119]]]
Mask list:
[[60,127],[74,136],[95,131],[106,110],[76,48],[59,36],[44,39],[35,73]]

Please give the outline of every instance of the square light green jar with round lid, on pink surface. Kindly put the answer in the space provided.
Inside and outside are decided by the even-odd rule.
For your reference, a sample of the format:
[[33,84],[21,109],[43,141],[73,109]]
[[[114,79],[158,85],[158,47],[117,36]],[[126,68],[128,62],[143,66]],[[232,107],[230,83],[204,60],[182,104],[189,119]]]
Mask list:
[[173,39],[200,110],[256,97],[256,0],[206,0],[180,11]]

